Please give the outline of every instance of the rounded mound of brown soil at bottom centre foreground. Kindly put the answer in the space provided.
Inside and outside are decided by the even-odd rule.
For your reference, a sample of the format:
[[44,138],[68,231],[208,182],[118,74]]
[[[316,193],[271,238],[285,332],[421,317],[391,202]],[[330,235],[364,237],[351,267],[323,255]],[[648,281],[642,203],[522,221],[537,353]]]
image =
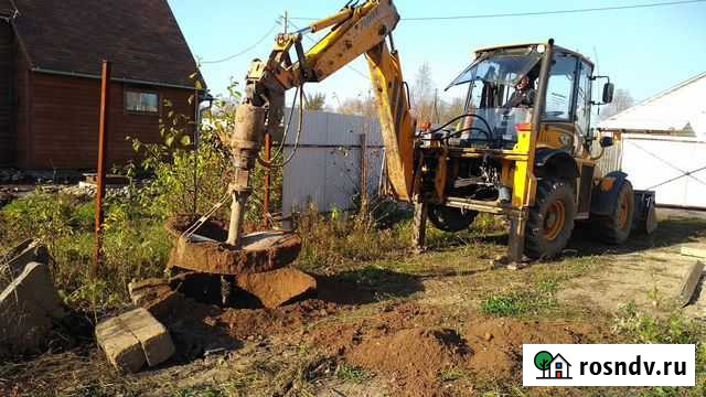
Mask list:
[[440,374],[466,365],[471,351],[453,330],[416,328],[363,341],[347,355],[353,365],[388,374],[408,396],[439,394]]

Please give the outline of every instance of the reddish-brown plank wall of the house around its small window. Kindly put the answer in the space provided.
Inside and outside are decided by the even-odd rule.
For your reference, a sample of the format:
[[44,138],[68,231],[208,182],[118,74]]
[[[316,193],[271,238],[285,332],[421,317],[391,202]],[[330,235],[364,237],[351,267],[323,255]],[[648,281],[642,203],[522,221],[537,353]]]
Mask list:
[[[30,73],[31,110],[26,151],[19,165],[24,169],[95,169],[98,151],[100,81],[43,73]],[[126,84],[113,83],[109,112],[108,165],[125,164],[135,159],[130,141],[161,141],[159,119],[167,119],[164,100],[173,104],[175,114],[193,115],[189,105],[193,92],[163,87],[127,88],[158,92],[161,115],[138,115],[125,110]]]

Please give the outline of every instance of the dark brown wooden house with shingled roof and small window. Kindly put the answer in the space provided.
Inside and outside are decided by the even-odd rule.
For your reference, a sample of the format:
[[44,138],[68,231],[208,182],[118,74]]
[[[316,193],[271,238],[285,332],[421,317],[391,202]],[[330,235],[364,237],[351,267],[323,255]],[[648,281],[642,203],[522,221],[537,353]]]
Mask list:
[[0,0],[0,167],[96,167],[104,58],[108,163],[125,163],[126,137],[157,142],[170,110],[195,112],[201,75],[167,0]]

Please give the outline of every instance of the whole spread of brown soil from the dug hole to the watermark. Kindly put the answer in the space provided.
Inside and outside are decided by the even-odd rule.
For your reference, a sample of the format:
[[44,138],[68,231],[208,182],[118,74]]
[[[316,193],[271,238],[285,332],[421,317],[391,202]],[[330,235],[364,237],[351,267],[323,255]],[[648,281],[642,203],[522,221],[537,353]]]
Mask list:
[[162,305],[150,311],[191,356],[227,341],[277,336],[379,374],[392,396],[447,396],[445,379],[459,374],[518,382],[524,343],[586,343],[598,335],[586,323],[454,318],[411,302],[376,305],[362,314],[355,305],[341,303],[350,296],[360,298],[362,291],[353,283],[321,285],[321,294],[276,309],[220,308],[175,293],[179,299],[172,298],[169,310]]

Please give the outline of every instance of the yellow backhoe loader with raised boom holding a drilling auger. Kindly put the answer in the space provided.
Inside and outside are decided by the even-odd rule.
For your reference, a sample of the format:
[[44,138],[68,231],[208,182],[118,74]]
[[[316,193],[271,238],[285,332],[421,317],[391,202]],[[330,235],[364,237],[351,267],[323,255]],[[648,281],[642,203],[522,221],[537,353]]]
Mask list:
[[[280,127],[285,93],[301,95],[304,84],[322,82],[361,54],[375,92],[391,193],[415,206],[416,245],[424,246],[427,218],[459,232],[481,212],[510,218],[510,261],[560,254],[578,221],[611,244],[625,242],[633,226],[653,230],[654,194],[633,192],[622,172],[597,170],[613,140],[595,135],[591,107],[610,103],[613,85],[593,74],[587,57],[554,40],[479,50],[450,84],[467,87],[463,114],[418,130],[393,41],[398,22],[391,0],[367,0],[278,35],[269,57],[253,62],[236,127],[225,138],[235,169],[228,244],[240,245],[249,174],[263,137]],[[327,29],[304,51],[302,34]],[[602,79],[596,103],[591,89]]]

